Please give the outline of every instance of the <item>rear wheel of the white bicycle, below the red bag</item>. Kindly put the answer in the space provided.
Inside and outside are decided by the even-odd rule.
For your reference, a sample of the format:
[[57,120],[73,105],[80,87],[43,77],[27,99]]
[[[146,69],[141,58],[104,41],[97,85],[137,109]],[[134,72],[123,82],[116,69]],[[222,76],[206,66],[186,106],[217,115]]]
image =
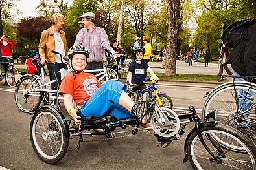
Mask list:
[[22,112],[32,112],[39,107],[41,103],[40,92],[34,90],[39,87],[41,82],[31,75],[23,76],[17,81],[14,92],[14,100]]

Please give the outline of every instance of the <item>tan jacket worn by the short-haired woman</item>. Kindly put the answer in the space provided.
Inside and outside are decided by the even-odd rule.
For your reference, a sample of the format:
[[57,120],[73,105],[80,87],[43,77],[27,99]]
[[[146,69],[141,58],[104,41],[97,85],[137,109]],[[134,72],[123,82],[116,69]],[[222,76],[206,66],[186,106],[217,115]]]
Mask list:
[[[65,55],[67,56],[67,39],[63,30],[60,30],[60,37],[64,43]],[[52,27],[41,32],[41,39],[38,48],[41,59],[46,59],[49,63],[55,63],[55,56],[51,52],[51,50],[55,50],[54,32],[52,31]]]

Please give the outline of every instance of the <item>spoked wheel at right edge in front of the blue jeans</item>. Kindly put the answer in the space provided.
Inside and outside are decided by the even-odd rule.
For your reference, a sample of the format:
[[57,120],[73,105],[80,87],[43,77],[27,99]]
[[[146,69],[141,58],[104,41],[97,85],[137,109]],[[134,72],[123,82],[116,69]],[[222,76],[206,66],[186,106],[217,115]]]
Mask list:
[[[244,90],[255,94],[256,86],[248,82],[235,81],[231,83],[225,83],[213,89],[204,103],[203,116],[205,116],[218,109],[216,114],[216,120],[220,124],[226,124],[239,129],[242,133],[246,134],[251,139],[251,142],[256,144],[256,115],[255,107],[250,108],[250,114],[247,117],[243,114],[239,106],[239,97],[237,92]],[[255,100],[252,101],[255,103]]]

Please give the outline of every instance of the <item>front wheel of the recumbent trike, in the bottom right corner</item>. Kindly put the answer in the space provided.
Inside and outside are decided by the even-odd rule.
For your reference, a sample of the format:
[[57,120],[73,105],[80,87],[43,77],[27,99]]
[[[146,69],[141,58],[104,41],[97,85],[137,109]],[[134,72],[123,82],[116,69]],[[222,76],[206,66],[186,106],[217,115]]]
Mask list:
[[[202,138],[211,152],[220,158],[220,162],[213,160],[213,157],[206,151],[200,142],[198,134],[194,131],[187,138],[186,151],[189,162],[194,169],[256,169],[256,148],[248,141],[248,138],[231,127],[203,127],[200,129]],[[213,142],[209,136],[218,136],[231,147],[242,147],[244,151],[235,152],[222,147],[219,143]]]

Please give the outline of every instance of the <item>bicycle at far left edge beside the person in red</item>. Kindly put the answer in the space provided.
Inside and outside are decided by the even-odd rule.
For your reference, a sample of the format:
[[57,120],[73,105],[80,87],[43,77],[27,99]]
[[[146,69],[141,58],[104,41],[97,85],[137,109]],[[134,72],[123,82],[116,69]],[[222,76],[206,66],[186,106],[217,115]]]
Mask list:
[[[19,70],[17,70],[17,68],[14,66],[13,59],[17,58],[8,58],[8,62],[2,62],[2,59],[0,58],[0,81],[6,80],[8,86],[10,87],[15,87],[17,80],[19,80]],[[3,63],[8,63],[8,70],[6,74],[4,70],[2,70]]]

